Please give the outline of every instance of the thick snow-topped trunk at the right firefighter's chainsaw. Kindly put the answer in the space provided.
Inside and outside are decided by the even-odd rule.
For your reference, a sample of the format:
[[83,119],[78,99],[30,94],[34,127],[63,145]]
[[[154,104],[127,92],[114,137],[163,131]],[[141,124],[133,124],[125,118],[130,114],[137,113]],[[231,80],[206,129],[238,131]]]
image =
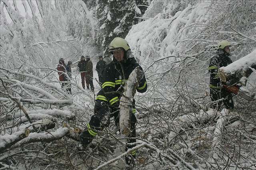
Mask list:
[[239,82],[242,77],[250,76],[250,74],[253,72],[251,68],[256,69],[255,49],[250,54],[238,59],[237,61],[234,61],[226,67],[220,67],[220,79],[221,81],[227,83],[229,83],[231,80],[232,82]]

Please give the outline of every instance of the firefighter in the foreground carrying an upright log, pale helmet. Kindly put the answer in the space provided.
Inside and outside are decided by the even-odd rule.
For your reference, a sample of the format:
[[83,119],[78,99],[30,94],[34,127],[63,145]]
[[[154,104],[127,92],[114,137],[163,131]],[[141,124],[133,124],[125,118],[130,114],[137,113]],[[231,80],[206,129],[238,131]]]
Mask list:
[[[122,38],[114,38],[109,45],[110,52],[113,53],[113,61],[106,65],[102,71],[102,89],[98,92],[96,97],[96,104],[94,107],[94,115],[92,115],[90,122],[86,125],[87,128],[80,134],[80,141],[84,148],[92,139],[98,134],[98,130],[103,130],[104,127],[108,127],[110,117],[114,117],[116,127],[119,127],[119,100],[120,93],[123,93],[125,80],[128,79],[130,73],[140,65],[136,62],[136,59],[132,56],[132,52],[126,40]],[[123,72],[123,71],[124,72]],[[124,74],[123,74],[124,73]],[[143,73],[142,78],[139,81],[137,91],[139,93],[146,92],[148,85]],[[116,92],[119,93],[111,93]],[[135,101],[132,103],[133,113],[135,110]],[[134,114],[130,115],[131,130],[130,137],[136,137],[136,117]],[[136,142],[135,139],[129,139],[129,143]],[[128,145],[128,148],[134,146]],[[126,148],[126,149],[128,149]],[[131,156],[132,155],[132,156]],[[133,158],[136,156],[136,151],[126,156],[126,163],[131,164]]]

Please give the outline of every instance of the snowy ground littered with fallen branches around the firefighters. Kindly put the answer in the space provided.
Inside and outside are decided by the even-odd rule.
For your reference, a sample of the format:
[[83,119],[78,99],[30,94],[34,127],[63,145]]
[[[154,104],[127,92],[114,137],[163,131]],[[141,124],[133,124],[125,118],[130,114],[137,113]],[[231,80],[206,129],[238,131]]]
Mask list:
[[[96,62],[94,62],[94,67]],[[95,69],[94,69],[95,70]],[[2,71],[2,70],[1,70]],[[2,73],[4,73],[2,71]],[[11,169],[124,169],[123,145],[115,129],[110,126],[93,140],[88,150],[79,150],[80,142],[74,140],[75,127],[83,130],[94,110],[94,99],[100,86],[94,79],[95,92],[83,90],[79,72],[72,68],[72,95],[63,96],[50,88],[60,88],[58,74],[45,73],[42,80],[28,81],[34,87],[18,83],[30,90],[40,87],[41,95],[60,101],[22,105],[34,123],[24,117],[15,102],[1,102],[1,167]],[[15,73],[10,73],[15,77]],[[25,76],[25,75],[24,75]],[[41,77],[40,76],[40,77]],[[9,83],[12,82],[10,77]],[[27,75],[28,77],[28,75]],[[94,71],[94,78],[97,73]],[[16,77],[17,78],[17,77]],[[7,81],[7,80],[6,80]],[[38,83],[41,81],[41,84]],[[150,84],[150,82],[148,82]],[[35,91],[35,89],[34,89]],[[60,91],[60,90],[59,90]],[[149,89],[147,93],[152,93]],[[17,91],[12,91],[12,95]],[[175,100],[164,101],[158,97],[136,96],[137,157],[134,169],[223,169],[256,168],[256,104],[234,96],[235,109],[216,112],[207,108],[208,96],[194,99],[187,91],[177,91]],[[71,103],[62,104],[64,99]],[[1,98],[4,101],[5,98]],[[14,98],[15,100],[15,98]],[[62,100],[62,101],[61,101]],[[22,101],[22,99],[20,99]],[[19,101],[17,101],[19,102]],[[32,102],[32,101],[30,101]],[[48,102],[45,100],[45,102]],[[50,127],[54,123],[55,127]],[[38,126],[37,131],[32,127]],[[43,127],[43,125],[45,125]],[[20,136],[29,128],[28,136]],[[17,134],[19,135],[17,139]],[[23,134],[23,133],[22,133]],[[48,136],[47,136],[48,135]],[[50,136],[49,136],[50,135]],[[53,138],[52,138],[53,136]],[[15,140],[14,140],[15,139]],[[77,139],[77,138],[76,138]],[[120,156],[120,157],[118,157]],[[116,161],[112,161],[115,159]]]

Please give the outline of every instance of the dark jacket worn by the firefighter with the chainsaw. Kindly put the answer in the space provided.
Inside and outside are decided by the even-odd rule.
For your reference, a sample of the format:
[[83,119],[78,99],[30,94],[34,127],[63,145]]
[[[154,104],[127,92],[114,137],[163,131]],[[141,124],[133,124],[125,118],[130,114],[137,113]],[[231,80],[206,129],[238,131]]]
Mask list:
[[227,53],[224,53],[222,49],[219,49],[210,60],[210,65],[208,67],[208,72],[210,73],[210,85],[212,89],[221,89],[220,77],[218,75],[218,70],[220,67],[225,67],[232,63],[230,57]]

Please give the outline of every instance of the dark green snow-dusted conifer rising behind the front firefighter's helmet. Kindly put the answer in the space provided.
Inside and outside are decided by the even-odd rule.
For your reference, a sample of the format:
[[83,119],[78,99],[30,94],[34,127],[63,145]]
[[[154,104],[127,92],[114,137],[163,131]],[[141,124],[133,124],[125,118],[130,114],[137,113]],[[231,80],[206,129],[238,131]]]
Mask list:
[[138,22],[137,17],[143,14],[147,4],[145,0],[97,0],[97,43],[103,47],[104,53],[115,37],[125,38],[132,25]]

